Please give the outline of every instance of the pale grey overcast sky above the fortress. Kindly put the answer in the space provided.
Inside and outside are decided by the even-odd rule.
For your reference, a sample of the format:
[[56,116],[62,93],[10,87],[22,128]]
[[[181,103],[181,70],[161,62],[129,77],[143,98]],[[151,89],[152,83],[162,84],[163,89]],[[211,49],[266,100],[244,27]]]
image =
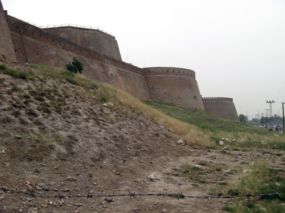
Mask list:
[[115,35],[138,67],[196,72],[203,97],[232,97],[250,118],[285,102],[284,0],[1,0],[9,15],[46,26],[72,23]]

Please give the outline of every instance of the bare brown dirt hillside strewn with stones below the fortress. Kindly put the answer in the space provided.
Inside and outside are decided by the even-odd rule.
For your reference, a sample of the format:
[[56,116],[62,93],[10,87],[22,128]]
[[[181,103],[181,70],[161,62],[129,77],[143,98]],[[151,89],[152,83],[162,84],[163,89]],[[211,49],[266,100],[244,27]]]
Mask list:
[[[284,151],[209,149],[202,141],[214,143],[195,126],[187,127],[189,145],[178,145],[178,121],[169,129],[166,115],[155,121],[150,109],[128,106],[112,87],[66,70],[2,58],[0,99],[0,182],[11,189],[38,195],[227,195],[253,159],[285,169]],[[151,180],[152,173],[160,178]],[[221,212],[232,204],[157,196],[36,199],[12,192],[0,202],[0,212],[31,213]]]

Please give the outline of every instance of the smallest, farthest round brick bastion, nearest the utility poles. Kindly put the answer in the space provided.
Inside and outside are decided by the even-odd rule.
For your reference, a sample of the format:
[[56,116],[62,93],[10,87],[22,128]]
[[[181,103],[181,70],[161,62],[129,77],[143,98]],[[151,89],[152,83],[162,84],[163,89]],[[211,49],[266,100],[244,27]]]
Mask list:
[[210,114],[214,114],[222,119],[239,121],[237,109],[232,98],[206,97],[203,98],[204,109]]

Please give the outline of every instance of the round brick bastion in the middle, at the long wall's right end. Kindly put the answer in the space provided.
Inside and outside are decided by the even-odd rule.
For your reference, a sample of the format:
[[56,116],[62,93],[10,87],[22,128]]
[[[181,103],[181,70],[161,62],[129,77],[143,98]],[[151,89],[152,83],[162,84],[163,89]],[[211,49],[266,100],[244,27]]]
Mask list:
[[143,68],[150,99],[204,111],[195,72],[177,67]]

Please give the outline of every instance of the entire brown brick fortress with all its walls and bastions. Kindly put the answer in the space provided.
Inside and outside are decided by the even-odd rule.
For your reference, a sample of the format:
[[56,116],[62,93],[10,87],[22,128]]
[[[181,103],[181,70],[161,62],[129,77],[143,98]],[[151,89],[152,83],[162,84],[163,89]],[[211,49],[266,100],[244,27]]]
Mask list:
[[208,111],[238,121],[233,99],[202,98],[193,70],[140,68],[123,62],[115,37],[98,29],[38,28],[9,16],[1,4],[0,32],[0,54],[6,58],[65,69],[75,57],[84,63],[83,75],[113,84],[138,99]]

